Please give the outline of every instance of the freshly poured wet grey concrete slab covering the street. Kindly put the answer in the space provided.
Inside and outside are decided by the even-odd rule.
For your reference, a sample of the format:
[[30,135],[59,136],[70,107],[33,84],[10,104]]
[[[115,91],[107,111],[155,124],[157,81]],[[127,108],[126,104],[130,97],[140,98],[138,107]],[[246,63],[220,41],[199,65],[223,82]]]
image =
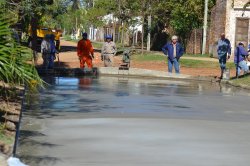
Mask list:
[[46,78],[18,155],[31,166],[249,166],[249,92],[187,81]]

